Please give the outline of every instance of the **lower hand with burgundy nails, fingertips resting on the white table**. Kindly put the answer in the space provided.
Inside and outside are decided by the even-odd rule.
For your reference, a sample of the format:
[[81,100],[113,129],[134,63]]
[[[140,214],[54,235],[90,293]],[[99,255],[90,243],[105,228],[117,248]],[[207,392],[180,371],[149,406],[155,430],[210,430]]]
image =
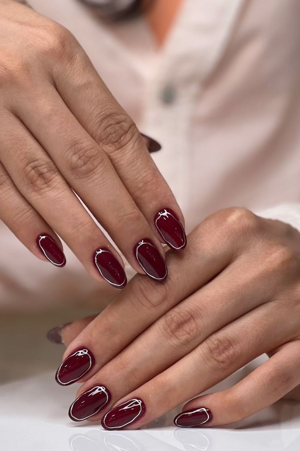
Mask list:
[[75,421],[140,428],[264,353],[267,363],[189,401],[175,424],[232,423],[300,383],[300,234],[230,208],[188,239],[184,253],[167,252],[164,284],[135,276],[68,346],[56,377],[84,382],[70,408]]

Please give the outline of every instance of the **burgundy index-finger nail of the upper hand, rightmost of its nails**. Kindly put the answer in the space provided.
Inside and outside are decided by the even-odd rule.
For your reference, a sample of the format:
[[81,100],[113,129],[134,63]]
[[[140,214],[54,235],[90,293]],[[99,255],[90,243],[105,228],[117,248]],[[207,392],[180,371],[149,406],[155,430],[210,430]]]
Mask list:
[[178,216],[170,208],[164,208],[154,216],[154,224],[170,248],[179,250],[187,245],[187,237]]

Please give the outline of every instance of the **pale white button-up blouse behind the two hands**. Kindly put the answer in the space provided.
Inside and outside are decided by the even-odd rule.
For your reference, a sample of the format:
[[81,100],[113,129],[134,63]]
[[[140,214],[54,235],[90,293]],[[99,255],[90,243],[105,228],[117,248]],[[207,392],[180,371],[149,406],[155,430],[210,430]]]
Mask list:
[[[187,232],[229,206],[271,208],[262,215],[300,229],[298,0],[184,0],[159,50],[143,18],[107,26],[75,0],[29,3],[72,31],[140,131],[161,143],[153,158]],[[61,270],[4,225],[0,234],[5,308],[99,304],[110,290],[66,245]]]

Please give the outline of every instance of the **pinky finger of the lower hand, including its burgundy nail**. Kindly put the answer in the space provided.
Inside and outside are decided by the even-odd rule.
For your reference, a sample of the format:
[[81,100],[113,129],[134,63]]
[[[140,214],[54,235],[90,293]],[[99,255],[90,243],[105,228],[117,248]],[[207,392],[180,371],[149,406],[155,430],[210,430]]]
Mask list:
[[175,417],[175,426],[205,428],[245,419],[295,388],[300,383],[299,370],[300,341],[292,341],[232,388],[189,401]]

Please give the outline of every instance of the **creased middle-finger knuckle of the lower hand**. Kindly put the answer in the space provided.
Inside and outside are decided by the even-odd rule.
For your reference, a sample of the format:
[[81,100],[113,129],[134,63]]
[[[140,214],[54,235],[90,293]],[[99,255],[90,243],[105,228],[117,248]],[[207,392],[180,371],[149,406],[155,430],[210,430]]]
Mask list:
[[190,308],[173,308],[161,321],[161,330],[175,345],[188,346],[198,335],[196,314]]

